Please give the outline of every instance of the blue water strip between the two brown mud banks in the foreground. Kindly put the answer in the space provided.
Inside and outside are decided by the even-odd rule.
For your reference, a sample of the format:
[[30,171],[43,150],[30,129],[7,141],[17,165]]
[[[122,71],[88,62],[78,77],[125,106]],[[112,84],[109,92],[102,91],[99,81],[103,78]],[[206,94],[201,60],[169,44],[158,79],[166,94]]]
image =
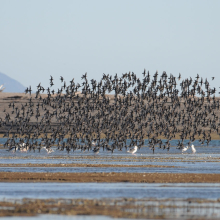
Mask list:
[[220,198],[220,184],[0,183],[0,199]]

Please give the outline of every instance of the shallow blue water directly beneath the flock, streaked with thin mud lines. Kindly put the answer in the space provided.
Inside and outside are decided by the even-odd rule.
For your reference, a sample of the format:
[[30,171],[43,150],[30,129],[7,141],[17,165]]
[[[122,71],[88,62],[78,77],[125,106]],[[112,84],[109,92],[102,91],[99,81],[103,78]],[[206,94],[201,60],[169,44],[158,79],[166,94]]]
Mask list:
[[[147,152],[150,153],[147,153]],[[67,154],[56,151],[47,154],[46,151],[8,152],[0,149],[0,172],[159,172],[159,173],[220,173],[219,147],[197,147],[196,154],[180,153],[175,147],[171,153],[152,152],[147,147],[141,148],[136,155],[125,150],[118,153],[92,152]],[[208,153],[208,152],[212,153]],[[172,153],[174,152],[174,153]],[[177,153],[176,153],[177,152]],[[158,165],[170,167],[7,167],[7,164],[110,164],[110,165]]]

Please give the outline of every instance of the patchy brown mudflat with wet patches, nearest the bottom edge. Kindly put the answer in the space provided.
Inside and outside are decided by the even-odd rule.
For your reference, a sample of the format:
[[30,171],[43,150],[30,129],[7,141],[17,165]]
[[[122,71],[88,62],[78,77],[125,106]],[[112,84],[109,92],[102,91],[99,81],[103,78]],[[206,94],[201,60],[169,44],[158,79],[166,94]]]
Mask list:
[[[39,214],[59,215],[105,215],[113,218],[132,219],[218,219],[213,212],[217,200],[204,199],[22,199],[1,201],[3,216],[36,216]],[[179,205],[178,205],[179,204]],[[191,204],[190,211],[189,205]],[[204,212],[208,213],[204,217]],[[158,209],[160,210],[158,212]],[[212,213],[215,217],[212,218]],[[196,218],[195,218],[196,214]],[[181,216],[179,218],[179,216]],[[62,216],[60,216],[62,218]],[[41,216],[39,216],[41,218]]]

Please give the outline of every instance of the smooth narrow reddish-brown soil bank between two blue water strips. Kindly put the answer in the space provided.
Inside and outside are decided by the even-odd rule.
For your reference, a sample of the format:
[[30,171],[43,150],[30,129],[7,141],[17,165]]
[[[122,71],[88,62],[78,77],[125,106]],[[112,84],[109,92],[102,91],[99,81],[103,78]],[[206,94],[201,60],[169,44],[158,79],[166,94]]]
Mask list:
[[0,172],[0,182],[220,183],[220,174]]

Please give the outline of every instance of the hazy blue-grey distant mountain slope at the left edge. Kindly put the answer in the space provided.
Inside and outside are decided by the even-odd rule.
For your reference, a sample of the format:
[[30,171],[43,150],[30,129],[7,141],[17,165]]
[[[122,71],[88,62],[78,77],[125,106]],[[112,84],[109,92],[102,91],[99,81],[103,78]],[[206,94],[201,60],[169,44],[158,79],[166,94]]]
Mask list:
[[15,92],[23,93],[26,87],[24,87],[20,82],[15,79],[10,78],[4,73],[0,73],[0,85],[4,84],[3,92]]

